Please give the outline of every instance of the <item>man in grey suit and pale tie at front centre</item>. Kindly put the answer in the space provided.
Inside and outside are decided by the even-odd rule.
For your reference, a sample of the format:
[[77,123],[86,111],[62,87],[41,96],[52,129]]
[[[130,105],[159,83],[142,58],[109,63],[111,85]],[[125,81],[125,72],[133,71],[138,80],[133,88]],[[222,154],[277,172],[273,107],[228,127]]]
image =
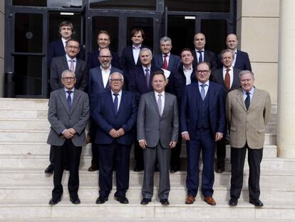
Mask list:
[[170,192],[170,156],[178,138],[178,107],[176,96],[165,92],[167,81],[162,71],[152,76],[152,88],[143,94],[138,107],[138,141],[143,148],[144,177],[143,205],[152,200],[154,189],[155,161],[160,170],[158,197],[163,206],[169,205]]

